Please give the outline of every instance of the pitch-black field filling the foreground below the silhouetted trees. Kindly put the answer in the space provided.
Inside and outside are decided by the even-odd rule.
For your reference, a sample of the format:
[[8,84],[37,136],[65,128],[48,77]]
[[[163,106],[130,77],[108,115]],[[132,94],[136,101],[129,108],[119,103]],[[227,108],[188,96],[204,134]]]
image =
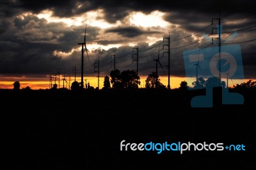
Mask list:
[[[191,108],[204,91],[1,90],[0,169],[249,169],[255,91],[244,105]],[[246,151],[120,151],[125,143],[244,144]]]

